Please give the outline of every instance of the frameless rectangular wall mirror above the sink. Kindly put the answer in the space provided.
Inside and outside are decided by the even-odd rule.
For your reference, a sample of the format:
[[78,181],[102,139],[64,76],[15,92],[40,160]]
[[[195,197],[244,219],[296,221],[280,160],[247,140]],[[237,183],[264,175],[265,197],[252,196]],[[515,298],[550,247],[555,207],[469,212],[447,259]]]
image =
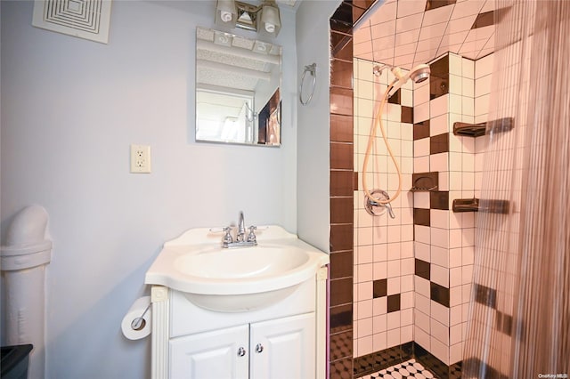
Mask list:
[[196,141],[281,145],[281,46],[196,29]]

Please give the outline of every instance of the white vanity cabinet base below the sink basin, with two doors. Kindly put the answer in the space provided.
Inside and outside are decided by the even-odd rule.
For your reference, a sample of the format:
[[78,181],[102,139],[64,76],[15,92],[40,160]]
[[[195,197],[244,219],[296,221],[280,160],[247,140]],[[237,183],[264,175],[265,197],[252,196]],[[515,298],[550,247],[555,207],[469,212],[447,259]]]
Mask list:
[[244,312],[206,310],[152,286],[152,379],[324,378],[326,272]]

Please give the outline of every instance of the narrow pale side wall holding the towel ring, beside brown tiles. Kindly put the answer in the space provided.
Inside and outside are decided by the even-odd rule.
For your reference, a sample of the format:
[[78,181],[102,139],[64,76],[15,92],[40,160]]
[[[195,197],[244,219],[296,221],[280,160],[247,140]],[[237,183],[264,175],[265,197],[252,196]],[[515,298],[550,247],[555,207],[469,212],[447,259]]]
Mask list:
[[329,20],[340,3],[305,0],[297,11],[299,83],[305,66],[317,64],[313,100],[302,106],[297,99],[297,234],[326,252],[330,250]]

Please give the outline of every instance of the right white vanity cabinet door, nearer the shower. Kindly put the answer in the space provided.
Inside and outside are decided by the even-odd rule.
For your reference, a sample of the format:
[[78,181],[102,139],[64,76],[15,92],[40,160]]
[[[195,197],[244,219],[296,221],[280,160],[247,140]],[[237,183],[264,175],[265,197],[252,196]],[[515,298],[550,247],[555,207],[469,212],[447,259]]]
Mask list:
[[314,378],[314,312],[250,325],[250,379]]

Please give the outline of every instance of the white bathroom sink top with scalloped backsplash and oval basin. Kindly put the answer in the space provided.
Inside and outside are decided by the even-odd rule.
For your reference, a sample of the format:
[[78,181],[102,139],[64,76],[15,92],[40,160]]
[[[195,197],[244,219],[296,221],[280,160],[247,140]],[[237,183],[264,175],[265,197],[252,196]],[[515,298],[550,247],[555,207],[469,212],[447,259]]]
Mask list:
[[145,283],[183,292],[201,308],[256,310],[292,294],[329,263],[329,255],[279,226],[258,230],[257,246],[227,249],[221,235],[193,229],[168,241]]

